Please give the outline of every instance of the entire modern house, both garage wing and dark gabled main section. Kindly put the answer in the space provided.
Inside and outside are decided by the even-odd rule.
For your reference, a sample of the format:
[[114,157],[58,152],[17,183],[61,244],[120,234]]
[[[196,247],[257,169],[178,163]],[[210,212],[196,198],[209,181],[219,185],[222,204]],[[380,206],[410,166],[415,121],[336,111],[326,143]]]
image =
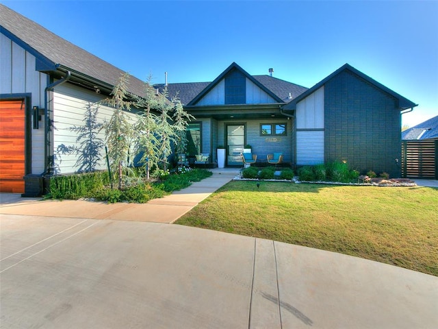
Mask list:
[[[190,155],[209,154],[214,163],[224,145],[226,165],[242,166],[240,152],[250,144],[260,162],[281,152],[292,167],[340,160],[400,175],[401,114],[415,103],[348,64],[309,89],[272,71],[250,75],[232,63],[212,82],[167,84],[170,97],[179,92],[196,117],[188,127]],[[106,169],[99,127],[113,110],[96,102],[122,74],[0,5],[0,192],[41,195],[52,175]],[[131,77],[129,92],[143,90]],[[77,151],[90,117],[92,160]]]

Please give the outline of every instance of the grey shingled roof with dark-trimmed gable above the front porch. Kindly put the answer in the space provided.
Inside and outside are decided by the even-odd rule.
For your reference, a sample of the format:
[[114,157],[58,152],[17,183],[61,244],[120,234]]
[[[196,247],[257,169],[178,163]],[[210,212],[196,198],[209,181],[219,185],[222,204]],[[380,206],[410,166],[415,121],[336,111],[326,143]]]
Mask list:
[[[181,103],[184,105],[195,105],[196,101],[203,98],[211,89],[218,84],[222,78],[231,70],[237,69],[244,74],[251,82],[259,86],[263,91],[270,95],[279,103],[287,103],[307,90],[303,86],[287,82],[285,80],[271,77],[270,75],[250,75],[242,67],[233,62],[223,71],[213,82],[189,82],[181,84],[168,84],[169,97],[179,93]],[[164,84],[155,84],[155,88],[162,90]]]

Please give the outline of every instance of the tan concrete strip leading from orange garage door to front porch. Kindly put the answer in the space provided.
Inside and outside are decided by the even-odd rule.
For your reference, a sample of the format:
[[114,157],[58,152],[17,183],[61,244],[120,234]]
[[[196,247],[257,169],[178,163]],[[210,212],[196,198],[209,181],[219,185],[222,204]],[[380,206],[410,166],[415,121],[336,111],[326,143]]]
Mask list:
[[0,213],[173,223],[239,173],[239,169],[228,168],[211,171],[214,173],[211,177],[201,182],[194,182],[188,188],[175,191],[166,197],[153,199],[146,204],[42,200],[42,198],[22,198],[19,194],[0,193]]

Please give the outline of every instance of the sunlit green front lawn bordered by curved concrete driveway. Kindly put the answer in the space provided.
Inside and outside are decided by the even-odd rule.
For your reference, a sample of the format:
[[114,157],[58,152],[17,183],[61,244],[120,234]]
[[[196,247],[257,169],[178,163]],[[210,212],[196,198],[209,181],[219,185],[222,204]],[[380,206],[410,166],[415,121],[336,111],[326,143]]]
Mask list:
[[176,223],[438,276],[437,188],[230,182]]

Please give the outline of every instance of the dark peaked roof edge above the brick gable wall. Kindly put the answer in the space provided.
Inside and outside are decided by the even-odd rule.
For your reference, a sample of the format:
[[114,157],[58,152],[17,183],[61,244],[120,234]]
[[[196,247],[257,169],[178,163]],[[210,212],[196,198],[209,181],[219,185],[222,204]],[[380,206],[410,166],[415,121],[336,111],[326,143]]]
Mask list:
[[302,93],[301,95],[296,97],[296,99],[294,99],[293,101],[291,101],[290,103],[285,105],[283,107],[283,110],[295,110],[296,109],[296,104],[299,101],[301,101],[302,99],[305,99],[305,97],[311,95],[311,93],[315,92],[315,90],[318,90],[319,88],[324,86],[324,84],[326,84],[326,82],[328,82],[333,77],[335,77],[336,75],[338,75],[339,73],[341,73],[343,71],[350,71],[351,73],[354,73],[355,75],[358,75],[359,77],[361,77],[366,82],[376,86],[376,88],[379,88],[379,89],[383,90],[385,93],[387,93],[387,94],[391,95],[392,97],[398,99],[398,106],[399,106],[400,110],[407,110],[408,108],[414,108],[415,106],[418,105],[418,104],[413,103],[412,101],[409,101],[409,99],[403,97],[402,95],[399,95],[395,91],[387,88],[386,86],[383,86],[383,84],[381,84],[380,82],[376,82],[376,80],[372,79],[368,75],[365,75],[361,71],[355,69],[350,64],[344,64],[339,69],[337,69],[335,72],[331,73],[331,75],[329,75],[328,77],[324,78],[323,80],[318,82],[318,84],[315,84],[315,86],[311,87],[310,89],[305,91],[305,93]]

